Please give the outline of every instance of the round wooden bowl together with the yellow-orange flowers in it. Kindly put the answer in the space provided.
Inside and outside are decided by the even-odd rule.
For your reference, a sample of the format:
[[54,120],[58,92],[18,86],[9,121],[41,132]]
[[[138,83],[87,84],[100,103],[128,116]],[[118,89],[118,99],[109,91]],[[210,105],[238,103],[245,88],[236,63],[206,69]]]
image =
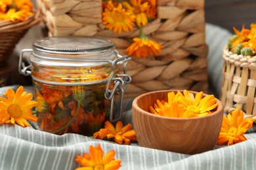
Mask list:
[[211,150],[222,122],[221,101],[202,92],[161,90],[144,93],[133,101],[137,141],[148,148],[182,154]]

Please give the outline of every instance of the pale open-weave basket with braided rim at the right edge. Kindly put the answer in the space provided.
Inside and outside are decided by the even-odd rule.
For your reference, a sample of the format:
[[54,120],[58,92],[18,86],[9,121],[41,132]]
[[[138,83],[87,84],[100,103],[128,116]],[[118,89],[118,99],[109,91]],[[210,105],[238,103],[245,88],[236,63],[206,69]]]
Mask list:
[[256,120],[256,56],[232,54],[223,50],[223,84],[221,102],[225,112],[242,109],[246,116]]

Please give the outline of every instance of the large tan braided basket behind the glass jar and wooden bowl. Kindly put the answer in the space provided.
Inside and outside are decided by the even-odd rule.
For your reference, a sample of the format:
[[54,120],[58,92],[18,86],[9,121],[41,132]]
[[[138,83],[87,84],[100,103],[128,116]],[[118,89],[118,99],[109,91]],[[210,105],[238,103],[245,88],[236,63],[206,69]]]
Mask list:
[[[114,33],[102,25],[102,1],[37,0],[49,36],[99,36],[116,42],[121,55],[139,36],[134,27],[128,33]],[[157,19],[144,27],[144,33],[163,44],[153,59],[133,58],[127,64],[132,82],[125,97],[165,89],[208,92],[207,44],[203,0],[158,0]]]

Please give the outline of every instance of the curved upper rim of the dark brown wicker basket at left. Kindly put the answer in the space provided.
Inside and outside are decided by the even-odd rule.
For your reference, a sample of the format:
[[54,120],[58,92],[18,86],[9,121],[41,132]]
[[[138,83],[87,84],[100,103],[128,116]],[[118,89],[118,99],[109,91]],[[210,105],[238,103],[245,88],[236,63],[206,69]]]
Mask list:
[[34,10],[32,16],[22,22],[11,22],[11,20],[0,21],[0,33],[10,33],[28,29],[40,22],[40,10]]

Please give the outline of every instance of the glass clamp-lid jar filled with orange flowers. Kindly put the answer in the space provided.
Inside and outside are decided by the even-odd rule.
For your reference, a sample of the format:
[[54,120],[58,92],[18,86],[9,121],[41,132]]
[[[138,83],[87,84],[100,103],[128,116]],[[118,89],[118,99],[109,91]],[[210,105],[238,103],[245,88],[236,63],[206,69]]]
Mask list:
[[[25,53],[31,65],[24,64]],[[91,136],[106,120],[118,120],[131,82],[125,71],[129,59],[100,37],[47,37],[22,50],[19,71],[32,76],[40,129]]]

